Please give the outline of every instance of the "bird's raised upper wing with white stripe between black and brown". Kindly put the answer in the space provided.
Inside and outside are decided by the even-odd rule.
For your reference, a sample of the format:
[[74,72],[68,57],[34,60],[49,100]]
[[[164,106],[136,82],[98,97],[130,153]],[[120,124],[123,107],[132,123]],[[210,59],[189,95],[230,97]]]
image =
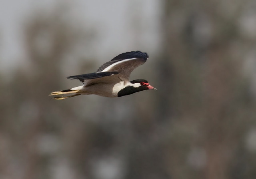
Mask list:
[[118,72],[122,78],[129,79],[132,71],[138,66],[144,64],[148,59],[148,54],[140,51],[122,53],[111,61],[103,64],[98,72]]

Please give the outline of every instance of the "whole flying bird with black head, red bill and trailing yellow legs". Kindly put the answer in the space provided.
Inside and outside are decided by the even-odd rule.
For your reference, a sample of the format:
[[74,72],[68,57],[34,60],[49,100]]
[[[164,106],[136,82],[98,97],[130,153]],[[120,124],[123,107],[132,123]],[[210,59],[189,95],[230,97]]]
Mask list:
[[68,90],[54,91],[52,99],[67,99],[78,95],[95,94],[104,97],[121,97],[143,90],[156,90],[147,80],[129,81],[130,74],[138,66],[144,64],[148,54],[140,51],[125,52],[119,54],[109,62],[103,64],[95,73],[69,76],[68,79],[77,79],[84,83],[83,86],[70,88]]

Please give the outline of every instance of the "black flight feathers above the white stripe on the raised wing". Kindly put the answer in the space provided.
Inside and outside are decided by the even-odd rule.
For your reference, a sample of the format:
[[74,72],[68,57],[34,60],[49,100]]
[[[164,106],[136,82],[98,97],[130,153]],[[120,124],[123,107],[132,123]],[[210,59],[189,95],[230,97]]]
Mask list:
[[142,58],[144,60],[147,60],[148,54],[144,53],[144,52],[140,52],[140,51],[132,51],[132,52],[125,52],[125,53],[119,54],[118,56],[113,58],[111,61],[106,62],[105,64],[100,66],[100,68],[97,70],[97,72],[103,71],[105,68],[107,68],[108,66],[110,66],[116,62],[120,62],[122,60],[130,59],[130,58]]

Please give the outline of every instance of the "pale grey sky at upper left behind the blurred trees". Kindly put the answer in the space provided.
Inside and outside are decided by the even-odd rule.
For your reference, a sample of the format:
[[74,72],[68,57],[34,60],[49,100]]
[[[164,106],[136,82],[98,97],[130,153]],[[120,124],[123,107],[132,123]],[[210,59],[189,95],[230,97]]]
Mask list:
[[[38,12],[51,12],[61,4],[60,2],[68,4],[66,14],[76,20],[74,23],[77,23],[77,26],[97,28],[98,39],[94,45],[97,46],[95,49],[98,51],[91,52],[94,58],[108,61],[109,57],[106,59],[104,56],[110,50],[116,54],[140,50],[134,47],[135,41],[143,42],[144,44],[138,45],[142,45],[145,48],[142,50],[151,54],[156,52],[159,46],[160,1],[158,0],[67,0],[66,2],[2,0],[0,6],[1,70],[10,72],[11,68],[26,60],[27,54],[23,48],[22,39],[26,20]],[[136,19],[138,13],[141,19]],[[130,38],[136,30],[140,31],[140,35]],[[137,38],[140,40],[136,40]]]

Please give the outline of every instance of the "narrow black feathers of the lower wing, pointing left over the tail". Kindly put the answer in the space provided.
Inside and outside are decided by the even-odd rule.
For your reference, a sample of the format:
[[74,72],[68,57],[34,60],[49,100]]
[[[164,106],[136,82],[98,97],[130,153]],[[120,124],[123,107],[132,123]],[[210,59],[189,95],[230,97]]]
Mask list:
[[68,79],[74,80],[80,80],[83,82],[84,80],[92,80],[96,78],[102,78],[105,76],[111,76],[111,75],[116,75],[119,74],[118,72],[95,72],[95,73],[90,73],[90,74],[82,74],[82,75],[75,75],[75,76],[69,76],[67,77]]

